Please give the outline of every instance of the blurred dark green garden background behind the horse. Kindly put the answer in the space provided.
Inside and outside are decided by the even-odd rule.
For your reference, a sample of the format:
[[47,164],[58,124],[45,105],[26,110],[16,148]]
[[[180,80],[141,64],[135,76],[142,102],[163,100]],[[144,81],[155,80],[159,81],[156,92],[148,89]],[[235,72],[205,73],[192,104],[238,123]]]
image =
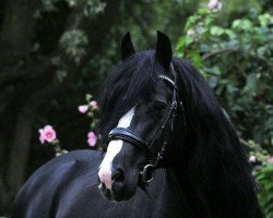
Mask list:
[[61,149],[96,148],[87,143],[94,118],[79,106],[86,94],[98,98],[128,31],[143,50],[155,47],[157,29],[235,123],[273,217],[272,12],[271,0],[0,0],[0,217],[56,155],[39,129],[52,125]]

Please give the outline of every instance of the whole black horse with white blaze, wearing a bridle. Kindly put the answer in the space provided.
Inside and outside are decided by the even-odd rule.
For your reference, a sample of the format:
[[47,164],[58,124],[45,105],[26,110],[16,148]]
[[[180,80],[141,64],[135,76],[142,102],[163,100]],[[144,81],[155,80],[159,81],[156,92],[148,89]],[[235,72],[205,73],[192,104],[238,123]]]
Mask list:
[[43,166],[12,217],[263,217],[230,120],[197,70],[173,58],[168,37],[157,32],[156,49],[135,53],[128,33],[121,59],[100,100],[106,154]]

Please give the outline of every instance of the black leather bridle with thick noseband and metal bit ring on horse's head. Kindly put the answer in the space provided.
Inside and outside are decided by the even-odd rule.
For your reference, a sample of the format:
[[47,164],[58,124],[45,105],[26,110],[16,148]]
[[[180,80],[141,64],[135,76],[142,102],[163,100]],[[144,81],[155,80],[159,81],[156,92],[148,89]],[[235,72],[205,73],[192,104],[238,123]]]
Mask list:
[[[114,141],[114,140],[122,140],[122,141],[129,142],[131,145],[142,149],[146,154],[146,156],[149,157],[149,161],[147,161],[149,164],[144,166],[144,168],[140,174],[141,175],[141,184],[140,185],[142,186],[143,190],[147,186],[149,182],[151,182],[153,180],[154,170],[156,168],[158,168],[158,164],[161,162],[161,160],[164,157],[165,148],[166,148],[166,145],[168,144],[169,133],[173,132],[173,130],[174,130],[174,122],[175,122],[175,118],[177,116],[178,108],[181,111],[183,129],[185,129],[185,131],[187,131],[185,107],[183,107],[183,104],[178,95],[178,89],[177,89],[177,85],[176,85],[176,74],[175,74],[173,64],[170,64],[170,71],[175,75],[175,81],[167,77],[166,75],[158,76],[159,80],[163,80],[173,88],[173,100],[171,100],[171,104],[168,108],[168,111],[164,118],[164,121],[163,121],[161,128],[157,130],[152,142],[150,144],[147,144],[135,132],[133,132],[132,130],[129,130],[129,129],[124,129],[124,128],[115,128],[108,134],[108,143],[110,141]],[[167,126],[169,126],[169,128],[167,128]],[[156,156],[154,156],[151,152],[151,147],[154,144],[156,144],[158,142],[158,140],[162,137],[164,137],[164,142],[162,144],[162,147],[161,147],[158,154]]]

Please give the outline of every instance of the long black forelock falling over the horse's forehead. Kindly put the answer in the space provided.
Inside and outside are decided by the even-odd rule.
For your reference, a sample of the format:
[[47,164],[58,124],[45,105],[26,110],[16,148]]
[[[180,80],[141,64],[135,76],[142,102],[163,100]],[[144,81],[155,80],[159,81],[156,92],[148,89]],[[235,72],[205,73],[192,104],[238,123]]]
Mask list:
[[106,80],[99,100],[103,137],[130,108],[153,92],[163,71],[154,51],[138,52],[116,66]]

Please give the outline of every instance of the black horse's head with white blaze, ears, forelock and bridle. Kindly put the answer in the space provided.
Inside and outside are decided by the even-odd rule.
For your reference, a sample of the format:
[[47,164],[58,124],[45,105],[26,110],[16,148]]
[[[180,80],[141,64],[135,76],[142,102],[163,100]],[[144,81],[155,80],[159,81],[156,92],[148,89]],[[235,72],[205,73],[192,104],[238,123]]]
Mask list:
[[177,119],[186,123],[167,36],[158,32],[155,51],[135,53],[128,33],[121,60],[107,80],[102,100],[102,124],[109,133],[99,187],[115,201],[130,198],[138,185],[145,189],[154,170],[167,162],[164,156],[175,138],[175,125],[181,124]]

